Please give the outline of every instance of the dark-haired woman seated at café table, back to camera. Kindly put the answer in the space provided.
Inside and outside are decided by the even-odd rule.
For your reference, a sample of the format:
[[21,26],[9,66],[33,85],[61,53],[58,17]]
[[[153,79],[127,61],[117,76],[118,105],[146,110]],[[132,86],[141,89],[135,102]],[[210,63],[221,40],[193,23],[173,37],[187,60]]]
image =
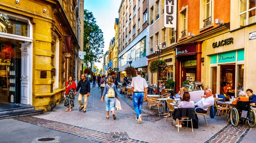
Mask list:
[[[180,102],[180,104],[178,105],[178,108],[195,108],[194,101],[190,101],[190,94],[189,94],[189,92],[184,92],[183,93],[183,98],[182,98],[182,101]],[[176,122],[175,121],[176,120],[175,119],[175,113],[176,112],[174,111],[174,115],[173,115],[174,123]],[[179,128],[182,128],[181,121],[179,121],[179,123],[176,124],[175,126],[178,126]]]

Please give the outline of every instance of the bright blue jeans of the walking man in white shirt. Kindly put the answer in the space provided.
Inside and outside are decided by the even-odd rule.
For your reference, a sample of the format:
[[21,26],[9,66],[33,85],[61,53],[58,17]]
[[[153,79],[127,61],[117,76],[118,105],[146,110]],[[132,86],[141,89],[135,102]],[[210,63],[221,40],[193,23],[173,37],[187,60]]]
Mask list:
[[137,114],[137,119],[141,114],[141,108],[143,104],[144,93],[134,93],[133,95],[133,104],[134,104],[134,111]]

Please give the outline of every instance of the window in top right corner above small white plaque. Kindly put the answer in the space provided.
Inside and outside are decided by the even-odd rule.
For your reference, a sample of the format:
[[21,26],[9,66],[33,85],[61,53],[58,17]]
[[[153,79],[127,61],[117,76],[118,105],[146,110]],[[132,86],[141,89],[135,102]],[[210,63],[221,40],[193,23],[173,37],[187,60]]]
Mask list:
[[255,0],[240,0],[240,4],[239,4],[240,27],[256,22],[255,10],[256,10]]

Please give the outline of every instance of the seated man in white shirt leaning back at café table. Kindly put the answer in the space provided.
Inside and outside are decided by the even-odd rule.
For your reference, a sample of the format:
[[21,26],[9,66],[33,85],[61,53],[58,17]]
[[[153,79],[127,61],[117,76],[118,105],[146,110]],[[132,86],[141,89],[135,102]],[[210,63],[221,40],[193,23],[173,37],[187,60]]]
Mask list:
[[195,108],[201,107],[201,108],[197,108],[196,112],[205,114],[207,113],[208,107],[212,106],[213,104],[214,104],[214,97],[212,95],[212,90],[207,89],[205,90],[205,95],[202,97],[202,99],[195,104]]

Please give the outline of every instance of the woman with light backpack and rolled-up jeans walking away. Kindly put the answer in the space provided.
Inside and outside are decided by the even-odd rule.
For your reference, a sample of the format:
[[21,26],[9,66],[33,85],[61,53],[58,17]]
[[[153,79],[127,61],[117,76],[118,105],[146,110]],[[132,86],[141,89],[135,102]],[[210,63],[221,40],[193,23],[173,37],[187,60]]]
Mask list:
[[117,94],[116,86],[115,84],[113,84],[113,79],[111,76],[108,77],[108,82],[105,85],[103,95],[101,98],[102,102],[103,102],[103,99],[105,100],[105,104],[106,104],[106,111],[107,111],[106,118],[109,118],[109,108],[110,108],[113,114],[113,118],[114,120],[116,120],[114,110],[115,110],[115,101],[116,99],[118,99],[118,94]]

